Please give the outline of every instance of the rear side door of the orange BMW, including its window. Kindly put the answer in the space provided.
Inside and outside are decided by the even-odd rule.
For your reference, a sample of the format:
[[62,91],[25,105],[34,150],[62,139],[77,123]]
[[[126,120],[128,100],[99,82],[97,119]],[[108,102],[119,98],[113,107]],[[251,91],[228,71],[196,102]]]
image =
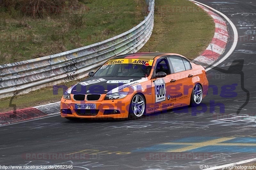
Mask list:
[[176,102],[175,105],[181,105],[185,99],[190,98],[193,89],[193,70],[190,62],[183,57],[168,56],[167,60],[171,69],[170,77],[176,82],[176,95],[172,96],[172,100]]

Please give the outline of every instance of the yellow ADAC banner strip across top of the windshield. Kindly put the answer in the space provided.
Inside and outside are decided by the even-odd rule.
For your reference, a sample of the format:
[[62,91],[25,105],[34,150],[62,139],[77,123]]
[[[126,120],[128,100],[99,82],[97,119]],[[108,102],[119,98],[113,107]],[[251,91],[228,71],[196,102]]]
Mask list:
[[132,58],[122,58],[122,59],[112,59],[108,60],[104,65],[109,64],[143,64],[145,66],[152,66],[152,59],[132,59]]

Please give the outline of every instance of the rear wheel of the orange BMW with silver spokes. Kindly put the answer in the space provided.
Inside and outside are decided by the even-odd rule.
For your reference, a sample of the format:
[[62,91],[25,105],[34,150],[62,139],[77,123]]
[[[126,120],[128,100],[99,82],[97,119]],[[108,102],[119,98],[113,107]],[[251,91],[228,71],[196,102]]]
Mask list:
[[190,98],[190,106],[196,107],[202,103],[203,100],[203,87],[200,84],[196,84],[192,90]]

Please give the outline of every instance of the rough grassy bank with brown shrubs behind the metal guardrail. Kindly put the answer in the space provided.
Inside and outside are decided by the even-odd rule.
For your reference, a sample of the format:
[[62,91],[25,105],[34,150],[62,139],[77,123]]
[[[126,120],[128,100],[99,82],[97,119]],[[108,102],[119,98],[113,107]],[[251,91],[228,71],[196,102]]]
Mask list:
[[[72,0],[45,8],[58,15],[34,18],[0,3],[0,64],[57,54],[111,38],[138,25],[146,16],[139,0]],[[24,6],[21,11],[31,11]],[[43,11],[41,11],[43,12]]]

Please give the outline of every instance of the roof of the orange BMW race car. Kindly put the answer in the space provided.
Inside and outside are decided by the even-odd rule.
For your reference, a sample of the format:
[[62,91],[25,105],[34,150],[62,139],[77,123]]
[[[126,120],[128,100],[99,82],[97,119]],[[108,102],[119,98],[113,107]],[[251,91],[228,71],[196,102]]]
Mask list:
[[[121,58],[141,58],[141,59],[155,59],[156,57],[162,57],[166,55],[178,55],[181,57],[184,57],[180,54],[175,54],[175,53],[156,53],[156,52],[143,52],[143,53],[131,53],[131,54],[124,54],[124,55],[117,55],[111,59],[121,59]],[[186,57],[184,57],[186,58]]]

